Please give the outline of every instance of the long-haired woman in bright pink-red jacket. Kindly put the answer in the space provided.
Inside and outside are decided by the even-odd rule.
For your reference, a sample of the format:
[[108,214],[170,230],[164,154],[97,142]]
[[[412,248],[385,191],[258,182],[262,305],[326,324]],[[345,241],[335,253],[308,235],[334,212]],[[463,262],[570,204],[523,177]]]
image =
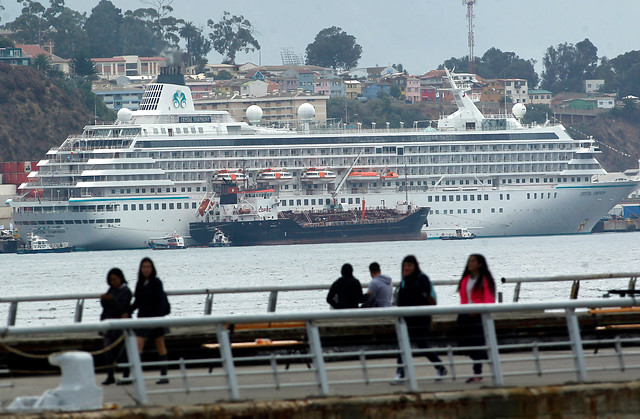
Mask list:
[[[460,304],[490,304],[496,302],[496,282],[491,275],[484,256],[473,254],[458,283]],[[480,314],[461,314],[458,316],[458,346],[484,346],[484,328]],[[473,361],[474,376],[467,383],[482,380],[482,362],[489,359],[486,349],[471,349],[464,353]]]

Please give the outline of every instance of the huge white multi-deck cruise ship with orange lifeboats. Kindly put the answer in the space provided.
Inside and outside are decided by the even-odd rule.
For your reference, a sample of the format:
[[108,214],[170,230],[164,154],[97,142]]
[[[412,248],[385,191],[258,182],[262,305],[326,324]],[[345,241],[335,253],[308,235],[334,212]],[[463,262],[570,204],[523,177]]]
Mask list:
[[[346,209],[400,202],[431,207],[431,237],[466,228],[477,236],[588,233],[638,182],[607,174],[591,140],[561,125],[523,126],[485,117],[449,77],[458,110],[427,129],[260,126],[227,112],[197,111],[184,78],[168,68],[140,109],[111,125],[89,125],[49,150],[7,201],[20,233],[80,249],[145,248],[189,223],[212,185],[272,188],[280,210]],[[208,201],[207,201],[208,202]]]

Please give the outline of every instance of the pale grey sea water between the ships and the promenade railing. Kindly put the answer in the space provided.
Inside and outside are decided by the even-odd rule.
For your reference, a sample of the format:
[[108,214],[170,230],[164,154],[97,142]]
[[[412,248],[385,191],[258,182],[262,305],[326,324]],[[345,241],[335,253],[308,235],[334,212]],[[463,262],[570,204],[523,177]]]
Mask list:
[[[417,256],[433,280],[459,279],[471,253],[482,253],[496,279],[581,273],[640,272],[640,232],[573,236],[478,238],[466,241],[338,243],[295,246],[190,248],[181,251],[121,250],[68,254],[0,254],[2,295],[56,295],[104,292],[106,273],[121,268],[135,287],[140,259],[150,256],[165,288],[203,289],[260,285],[330,284],[343,263],[354,266],[361,281],[369,281],[368,265],[377,261],[384,273],[399,280],[402,258]],[[625,280],[591,281],[581,297],[600,297]],[[548,283],[523,287],[525,301],[566,299],[571,284]],[[438,287],[439,304],[457,304],[455,287]],[[505,301],[513,285],[499,285]],[[264,312],[266,294],[218,295],[214,314]],[[327,309],[325,292],[285,293],[278,310]],[[18,309],[18,324],[70,322],[75,302],[29,303]],[[204,297],[173,297],[172,316],[202,314]],[[0,304],[0,324],[8,304]],[[97,301],[85,302],[85,321],[97,320]]]

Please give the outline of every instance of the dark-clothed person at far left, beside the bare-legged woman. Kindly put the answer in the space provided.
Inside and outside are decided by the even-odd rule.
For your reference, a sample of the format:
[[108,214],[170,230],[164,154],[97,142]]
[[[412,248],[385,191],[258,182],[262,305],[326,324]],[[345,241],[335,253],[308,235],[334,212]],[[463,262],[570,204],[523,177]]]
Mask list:
[[[107,284],[109,285],[109,289],[106,293],[100,295],[100,304],[102,305],[100,320],[127,317],[131,307],[131,290],[127,287],[127,280],[124,278],[122,271],[118,268],[111,269],[109,273],[107,273]],[[101,334],[104,347],[108,348],[122,336],[122,330],[108,330]],[[123,344],[120,342],[104,353],[107,366],[107,378],[102,384],[105,386],[116,382],[116,368],[114,364],[118,362],[122,348]],[[129,368],[125,369],[123,373],[124,379],[128,377]]]

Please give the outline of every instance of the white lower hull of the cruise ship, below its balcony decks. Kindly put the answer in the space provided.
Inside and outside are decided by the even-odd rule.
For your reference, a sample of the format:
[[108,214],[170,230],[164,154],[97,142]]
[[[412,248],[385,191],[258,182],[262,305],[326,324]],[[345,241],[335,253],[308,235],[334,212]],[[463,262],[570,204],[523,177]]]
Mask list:
[[[589,233],[607,211],[637,188],[638,182],[610,182],[547,188],[424,191],[412,193],[409,198],[417,206],[431,207],[429,227],[426,228],[429,238],[437,238],[456,227],[466,227],[478,237],[582,234]],[[471,195],[474,195],[474,201],[470,200]],[[478,195],[481,195],[480,200]],[[357,196],[361,195],[345,194],[345,200]],[[435,202],[436,196],[440,198],[439,202]],[[442,202],[442,196],[446,196],[447,201]],[[280,199],[288,198],[296,196]],[[366,197],[367,205],[372,208],[395,205],[402,198],[402,193],[372,193]],[[150,197],[149,202],[156,199]],[[113,201],[114,204],[117,202]],[[144,199],[140,202],[146,205]],[[63,208],[64,203],[60,204],[58,208]],[[192,209],[177,214],[162,210],[156,214],[58,210],[14,213],[14,220],[19,222],[21,234],[35,233],[49,241],[66,241],[84,250],[147,248],[152,237],[173,231],[183,236],[187,244],[197,244],[189,231],[189,223],[197,221],[196,211]],[[30,224],[21,222],[23,220]],[[111,222],[96,223],[99,220]],[[31,225],[34,222],[42,224]]]

